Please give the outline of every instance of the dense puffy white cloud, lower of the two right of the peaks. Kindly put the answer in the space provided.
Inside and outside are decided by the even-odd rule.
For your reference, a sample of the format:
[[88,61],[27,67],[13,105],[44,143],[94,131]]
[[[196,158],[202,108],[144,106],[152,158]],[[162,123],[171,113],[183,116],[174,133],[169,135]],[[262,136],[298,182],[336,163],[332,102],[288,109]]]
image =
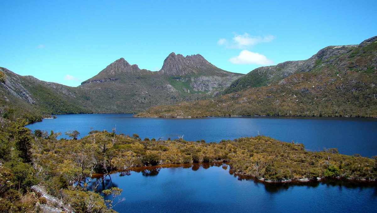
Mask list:
[[272,60],[267,59],[266,56],[248,50],[242,50],[238,56],[231,57],[229,61],[234,64],[272,65],[274,63]]

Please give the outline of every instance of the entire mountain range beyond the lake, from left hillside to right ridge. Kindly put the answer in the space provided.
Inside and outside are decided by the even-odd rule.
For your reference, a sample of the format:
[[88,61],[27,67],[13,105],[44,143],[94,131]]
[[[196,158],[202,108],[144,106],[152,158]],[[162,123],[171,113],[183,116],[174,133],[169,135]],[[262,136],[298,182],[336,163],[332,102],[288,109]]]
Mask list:
[[246,75],[217,68],[199,54],[175,53],[155,72],[120,58],[78,87],[0,68],[0,113],[30,122],[37,120],[35,113],[40,119],[43,114],[142,111],[138,116],[376,117],[376,69],[377,36]]

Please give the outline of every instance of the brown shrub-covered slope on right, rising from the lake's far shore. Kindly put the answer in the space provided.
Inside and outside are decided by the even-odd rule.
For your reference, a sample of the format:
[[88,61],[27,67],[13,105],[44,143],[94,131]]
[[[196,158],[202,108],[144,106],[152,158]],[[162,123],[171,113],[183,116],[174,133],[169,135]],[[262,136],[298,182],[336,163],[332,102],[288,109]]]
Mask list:
[[318,65],[310,71],[292,74],[270,85],[242,87],[241,91],[203,101],[156,106],[137,116],[377,117],[377,37],[351,49],[318,59]]

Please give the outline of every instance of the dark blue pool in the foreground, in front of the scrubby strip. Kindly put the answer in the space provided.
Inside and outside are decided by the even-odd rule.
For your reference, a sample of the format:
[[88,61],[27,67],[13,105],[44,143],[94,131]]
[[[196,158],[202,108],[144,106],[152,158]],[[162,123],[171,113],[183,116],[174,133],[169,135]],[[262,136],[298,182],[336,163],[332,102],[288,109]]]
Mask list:
[[340,181],[265,184],[231,174],[221,163],[135,168],[106,177],[99,191],[123,189],[126,200],[114,207],[120,213],[377,212],[376,186]]

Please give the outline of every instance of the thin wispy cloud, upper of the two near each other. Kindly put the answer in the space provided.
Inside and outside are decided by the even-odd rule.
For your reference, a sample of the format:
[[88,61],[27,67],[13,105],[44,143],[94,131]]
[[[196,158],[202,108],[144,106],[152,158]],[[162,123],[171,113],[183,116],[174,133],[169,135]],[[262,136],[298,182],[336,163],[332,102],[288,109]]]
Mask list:
[[234,37],[231,39],[231,41],[228,41],[225,38],[219,39],[217,42],[218,45],[224,45],[227,48],[238,48],[238,49],[244,49],[248,47],[252,47],[259,43],[267,43],[271,42],[276,37],[273,35],[267,35],[267,36],[250,36],[248,33],[244,33],[242,35],[234,35]]

